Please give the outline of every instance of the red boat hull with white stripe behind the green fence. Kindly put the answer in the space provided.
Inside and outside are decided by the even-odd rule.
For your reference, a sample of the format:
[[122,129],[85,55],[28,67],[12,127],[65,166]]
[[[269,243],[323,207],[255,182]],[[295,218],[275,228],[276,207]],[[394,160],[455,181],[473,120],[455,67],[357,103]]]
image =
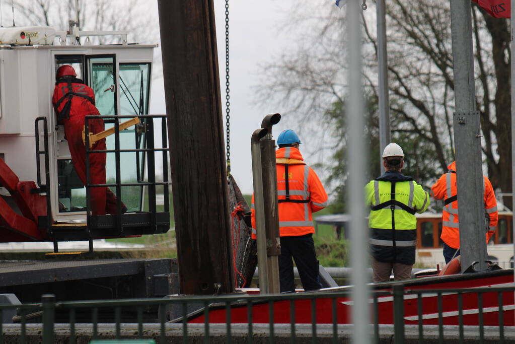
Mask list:
[[[389,291],[392,285],[399,282],[375,285],[375,290]],[[428,277],[417,280],[405,281],[404,289],[408,290],[427,290],[427,289],[462,289],[462,308],[463,308],[463,324],[478,325],[479,324],[479,303],[482,302],[483,309],[483,325],[498,326],[500,324],[499,317],[499,295],[502,295],[503,308],[503,325],[515,325],[515,307],[513,291],[504,291],[503,293],[483,293],[482,301],[479,300],[477,293],[467,293],[467,289],[478,287],[512,287],[513,270],[497,270],[484,273],[457,274],[451,276]],[[327,291],[318,291],[324,293],[328,298],[318,298],[311,300],[306,293],[306,299],[295,299],[294,301],[274,301],[273,304],[273,323],[290,323],[291,322],[291,302],[294,302],[294,322],[295,323],[312,323],[312,304],[315,305],[315,322],[318,324],[333,323],[333,301],[331,294],[335,292],[348,291],[348,288],[342,287]],[[470,291],[473,291],[470,290]],[[422,323],[438,324],[438,297],[437,294],[422,294]],[[405,324],[418,324],[418,297],[416,294],[408,294],[404,296],[404,320]],[[252,306],[252,322],[253,323],[269,323],[270,322],[270,303],[255,303]],[[336,323],[351,323],[351,310],[353,302],[348,297],[336,298]],[[373,301],[370,300],[370,310],[373,311]],[[441,309],[442,323],[445,325],[458,325],[458,293],[443,292],[441,293]],[[377,299],[378,319],[380,324],[393,324],[393,297],[382,296]],[[247,323],[248,307],[247,304],[232,305],[230,309],[231,323]],[[190,323],[204,323],[203,314],[190,319]],[[212,306],[209,312],[209,323],[226,323],[225,306]]]

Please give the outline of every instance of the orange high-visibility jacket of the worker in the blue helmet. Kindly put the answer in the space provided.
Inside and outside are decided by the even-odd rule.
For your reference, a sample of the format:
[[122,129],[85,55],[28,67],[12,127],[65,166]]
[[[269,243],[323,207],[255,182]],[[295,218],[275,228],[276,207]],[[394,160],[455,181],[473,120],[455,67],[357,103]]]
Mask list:
[[[312,213],[327,205],[327,193],[315,171],[307,166],[297,148],[276,151],[280,236],[315,233]],[[256,238],[254,195],[252,195],[252,238]]]

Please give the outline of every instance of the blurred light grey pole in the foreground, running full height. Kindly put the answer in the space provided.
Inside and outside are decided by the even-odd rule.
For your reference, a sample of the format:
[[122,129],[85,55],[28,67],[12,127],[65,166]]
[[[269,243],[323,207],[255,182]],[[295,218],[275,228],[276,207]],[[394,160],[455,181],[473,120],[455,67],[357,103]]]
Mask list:
[[[368,145],[364,140],[365,112],[363,106],[362,88],[362,32],[361,32],[361,6],[358,0],[351,0],[347,3],[347,27],[342,32],[347,32],[347,56],[348,56],[348,85],[352,85],[348,94],[347,107],[347,128],[349,144],[347,149],[347,166],[349,166],[349,186],[347,204],[351,214],[351,281],[352,299],[352,322],[354,323],[353,343],[370,343],[371,335],[369,329],[369,287],[367,285],[368,254],[365,249],[368,246],[368,229],[365,226],[365,201],[363,185],[365,185],[365,171],[367,169]],[[343,64],[343,63],[342,63]]]

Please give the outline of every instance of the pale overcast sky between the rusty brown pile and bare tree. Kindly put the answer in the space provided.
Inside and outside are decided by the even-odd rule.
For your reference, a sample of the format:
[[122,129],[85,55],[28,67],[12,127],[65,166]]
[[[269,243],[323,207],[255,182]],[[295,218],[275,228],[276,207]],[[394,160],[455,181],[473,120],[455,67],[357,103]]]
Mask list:
[[[157,2],[152,2],[157,13]],[[214,0],[214,4],[225,124],[225,1]],[[269,104],[254,104],[253,87],[258,84],[258,66],[272,61],[274,56],[279,56],[284,49],[292,45],[293,33],[282,32],[280,28],[288,19],[288,10],[298,4],[298,1],[293,0],[229,0],[231,173],[244,194],[252,193],[253,189],[251,134],[260,128],[266,114],[281,113],[282,110]],[[332,2],[328,1],[328,6],[331,5]],[[337,10],[336,7],[335,9]],[[161,77],[155,78],[152,84],[150,112],[165,113]],[[286,129],[285,123],[274,126],[273,135],[276,140],[283,129]],[[301,141],[309,144],[308,137],[301,137]]]

